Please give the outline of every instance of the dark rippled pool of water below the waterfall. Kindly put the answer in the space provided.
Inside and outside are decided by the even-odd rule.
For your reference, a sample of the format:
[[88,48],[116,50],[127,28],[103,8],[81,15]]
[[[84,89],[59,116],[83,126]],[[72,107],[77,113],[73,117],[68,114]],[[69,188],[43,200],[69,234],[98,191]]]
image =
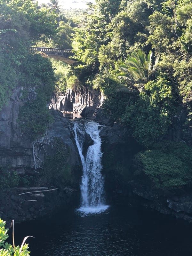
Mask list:
[[81,217],[74,210],[16,225],[16,242],[29,238],[31,256],[191,256],[192,224],[131,205]]

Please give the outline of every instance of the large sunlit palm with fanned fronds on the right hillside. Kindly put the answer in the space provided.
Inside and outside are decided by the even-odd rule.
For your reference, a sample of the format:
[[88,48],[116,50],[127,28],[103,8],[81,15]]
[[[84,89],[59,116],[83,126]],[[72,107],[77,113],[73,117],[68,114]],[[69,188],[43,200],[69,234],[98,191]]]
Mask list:
[[128,58],[128,65],[123,64],[119,67],[123,73],[119,74],[118,78],[136,82],[134,85],[141,92],[156,69],[158,58],[156,58],[155,64],[152,65],[152,55],[152,51],[149,51],[148,55],[146,55],[141,49],[133,52],[131,57]]

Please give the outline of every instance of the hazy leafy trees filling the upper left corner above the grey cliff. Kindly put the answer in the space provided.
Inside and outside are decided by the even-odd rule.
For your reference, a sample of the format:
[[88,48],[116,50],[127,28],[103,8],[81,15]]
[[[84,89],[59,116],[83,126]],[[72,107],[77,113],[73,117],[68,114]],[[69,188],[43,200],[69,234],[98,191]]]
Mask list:
[[[30,0],[0,1],[0,109],[7,103],[13,88],[25,89],[39,87],[38,78],[42,76],[42,57],[29,54],[29,47],[36,40],[47,40],[54,35],[56,16],[40,9]],[[33,59],[33,60],[32,60]],[[40,64],[39,64],[40,62]],[[45,66],[50,66],[44,62]],[[51,66],[47,81],[53,75]],[[38,80],[38,81],[37,81]],[[37,82],[37,84],[36,84]],[[50,84],[50,82],[48,82]],[[50,90],[48,90],[50,93]],[[50,97],[50,94],[47,98]]]

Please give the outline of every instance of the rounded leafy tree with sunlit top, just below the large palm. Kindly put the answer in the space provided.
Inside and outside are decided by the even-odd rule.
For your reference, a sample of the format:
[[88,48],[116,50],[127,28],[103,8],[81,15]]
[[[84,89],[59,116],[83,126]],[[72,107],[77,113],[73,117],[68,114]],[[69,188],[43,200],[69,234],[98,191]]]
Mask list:
[[140,144],[148,147],[168,132],[174,115],[172,88],[164,77],[145,85],[139,99],[127,106],[122,122]]

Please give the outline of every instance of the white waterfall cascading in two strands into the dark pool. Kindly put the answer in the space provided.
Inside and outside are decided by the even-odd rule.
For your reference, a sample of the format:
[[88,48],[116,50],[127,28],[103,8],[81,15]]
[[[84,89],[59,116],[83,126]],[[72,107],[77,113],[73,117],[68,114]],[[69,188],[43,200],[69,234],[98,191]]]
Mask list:
[[[99,124],[93,121],[81,124],[74,122],[75,141],[81,157],[83,176],[81,181],[82,205],[77,210],[85,214],[100,213],[109,206],[104,201],[104,178],[101,174],[101,138]],[[87,149],[86,158],[83,155],[85,133],[88,133],[94,144]]]

